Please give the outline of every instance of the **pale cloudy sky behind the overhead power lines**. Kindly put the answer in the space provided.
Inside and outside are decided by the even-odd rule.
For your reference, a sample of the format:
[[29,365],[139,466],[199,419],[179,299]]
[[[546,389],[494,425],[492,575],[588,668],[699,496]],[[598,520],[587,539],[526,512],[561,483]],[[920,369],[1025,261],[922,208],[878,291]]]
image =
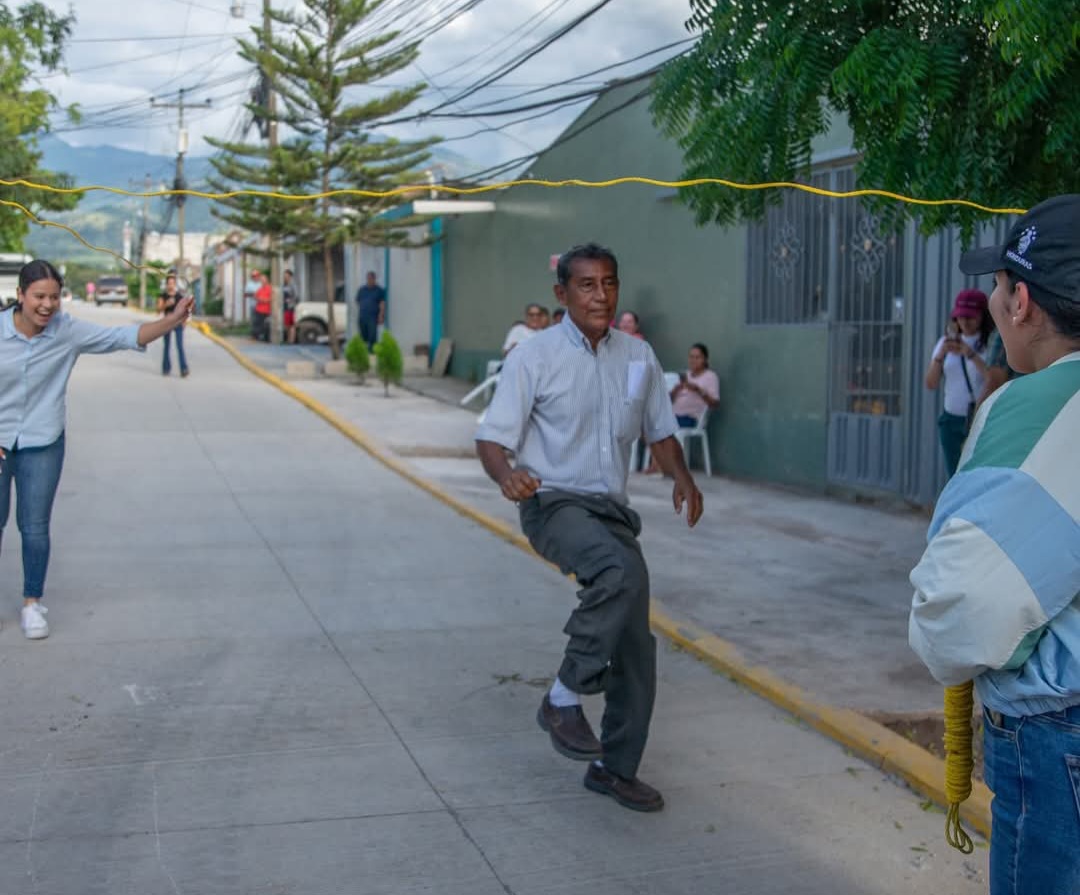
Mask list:
[[[473,10],[430,37],[419,68],[388,79],[386,86],[426,81],[428,94],[415,106],[430,109],[494,72],[499,66],[580,16],[597,0],[482,0]],[[78,23],[66,55],[66,74],[44,79],[64,105],[78,104],[84,114],[78,127],[57,120],[57,134],[76,145],[111,144],[172,154],[177,146],[175,109],[153,108],[151,97],[176,100],[179,87],[197,87],[187,100],[192,154],[208,154],[204,135],[234,137],[254,78],[235,54],[234,38],[251,33],[261,21],[261,0],[46,0],[57,11],[72,9]],[[274,0],[292,5],[295,0]],[[386,0],[394,26],[409,29],[463,0]],[[241,17],[232,15],[238,8]],[[595,69],[613,66],[688,37],[684,23],[689,0],[610,0],[588,22],[550,49],[505,76],[497,84],[461,100],[456,110],[474,110],[510,97],[512,105],[597,86],[611,78],[642,71],[678,49],[612,68],[548,92],[530,93]],[[386,87],[384,87],[386,89]],[[519,97],[514,99],[514,97]],[[210,108],[198,108],[211,99]],[[489,111],[496,106],[487,106]],[[480,165],[542,149],[579,114],[584,105],[507,127],[522,113],[465,121],[428,121],[399,125],[396,136],[456,137],[447,149]],[[485,127],[497,133],[475,134]],[[251,138],[255,132],[251,132]]]

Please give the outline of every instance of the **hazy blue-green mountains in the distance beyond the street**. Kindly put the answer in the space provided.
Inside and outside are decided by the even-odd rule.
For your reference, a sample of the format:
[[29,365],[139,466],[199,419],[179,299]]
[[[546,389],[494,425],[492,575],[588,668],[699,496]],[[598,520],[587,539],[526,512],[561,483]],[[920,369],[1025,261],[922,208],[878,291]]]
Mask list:
[[[72,146],[53,135],[41,137],[38,145],[42,152],[42,166],[48,171],[69,174],[80,187],[141,190],[149,177],[152,189],[167,189],[176,172],[176,158],[172,155],[156,155],[117,146]],[[480,167],[443,147],[434,147],[431,154],[432,163],[441,166],[447,178],[464,177]],[[205,187],[212,172],[207,157],[185,157],[184,174],[189,188]],[[185,230],[195,233],[227,229],[227,225],[211,214],[212,204],[206,200],[189,199],[184,209]],[[144,205],[147,206],[151,230],[176,232],[172,203],[163,199],[144,201],[105,191],[87,192],[73,211],[45,217],[71,227],[94,245],[121,252],[124,223],[130,222],[137,231]],[[86,248],[69,233],[52,227],[31,227],[26,245],[27,250],[39,258],[117,267],[110,256]]]

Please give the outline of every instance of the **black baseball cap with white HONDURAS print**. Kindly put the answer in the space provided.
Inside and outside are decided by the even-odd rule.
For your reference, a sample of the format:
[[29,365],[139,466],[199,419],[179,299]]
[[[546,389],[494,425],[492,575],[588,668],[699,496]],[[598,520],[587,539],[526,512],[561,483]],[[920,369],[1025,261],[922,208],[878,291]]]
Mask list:
[[969,275],[1008,270],[1048,293],[1080,301],[1080,194],[1055,195],[1024,215],[1004,245],[960,256]]

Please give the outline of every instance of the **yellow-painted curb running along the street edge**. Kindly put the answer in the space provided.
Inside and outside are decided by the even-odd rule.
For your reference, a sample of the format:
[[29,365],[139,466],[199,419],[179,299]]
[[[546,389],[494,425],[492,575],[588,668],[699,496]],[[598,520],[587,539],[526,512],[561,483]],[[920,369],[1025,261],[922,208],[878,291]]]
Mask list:
[[[211,341],[225,349],[244,369],[298,401],[367,451],[382,465],[427,491],[462,516],[472,519],[492,534],[544,561],[532,550],[525,535],[494,516],[470,506],[434,483],[418,475],[405,463],[390,457],[360,429],[299,389],[262,369],[217,336],[207,324],[194,323],[192,326]],[[659,600],[653,599],[651,604],[652,627],[673,643],[791,713],[814,730],[835,740],[881,771],[903,777],[916,791],[921,792],[939,805],[947,803],[945,798],[945,762],[942,759],[865,715],[816,702],[805,690],[778,677],[768,668],[747,662],[733,643],[696,624],[677,621]],[[973,829],[986,837],[990,835],[990,790],[985,784],[972,781],[971,797],[960,806],[960,814]]]

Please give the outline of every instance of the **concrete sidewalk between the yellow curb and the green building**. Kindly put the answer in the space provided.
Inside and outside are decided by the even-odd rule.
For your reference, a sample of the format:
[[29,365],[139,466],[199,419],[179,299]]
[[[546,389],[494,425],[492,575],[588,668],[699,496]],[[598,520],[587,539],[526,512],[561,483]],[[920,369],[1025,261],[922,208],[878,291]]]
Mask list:
[[[230,341],[283,377],[288,360],[329,357],[325,347]],[[387,401],[377,383],[289,382],[451,493],[517,525],[516,508],[475,459],[481,405],[458,406],[470,384],[409,377]],[[869,713],[941,713],[942,689],[907,646],[907,575],[926,546],[924,514],[706,479],[700,461],[694,472],[705,515],[692,533],[672,518],[670,480],[631,478],[654,593],[669,609],[822,702]]]

